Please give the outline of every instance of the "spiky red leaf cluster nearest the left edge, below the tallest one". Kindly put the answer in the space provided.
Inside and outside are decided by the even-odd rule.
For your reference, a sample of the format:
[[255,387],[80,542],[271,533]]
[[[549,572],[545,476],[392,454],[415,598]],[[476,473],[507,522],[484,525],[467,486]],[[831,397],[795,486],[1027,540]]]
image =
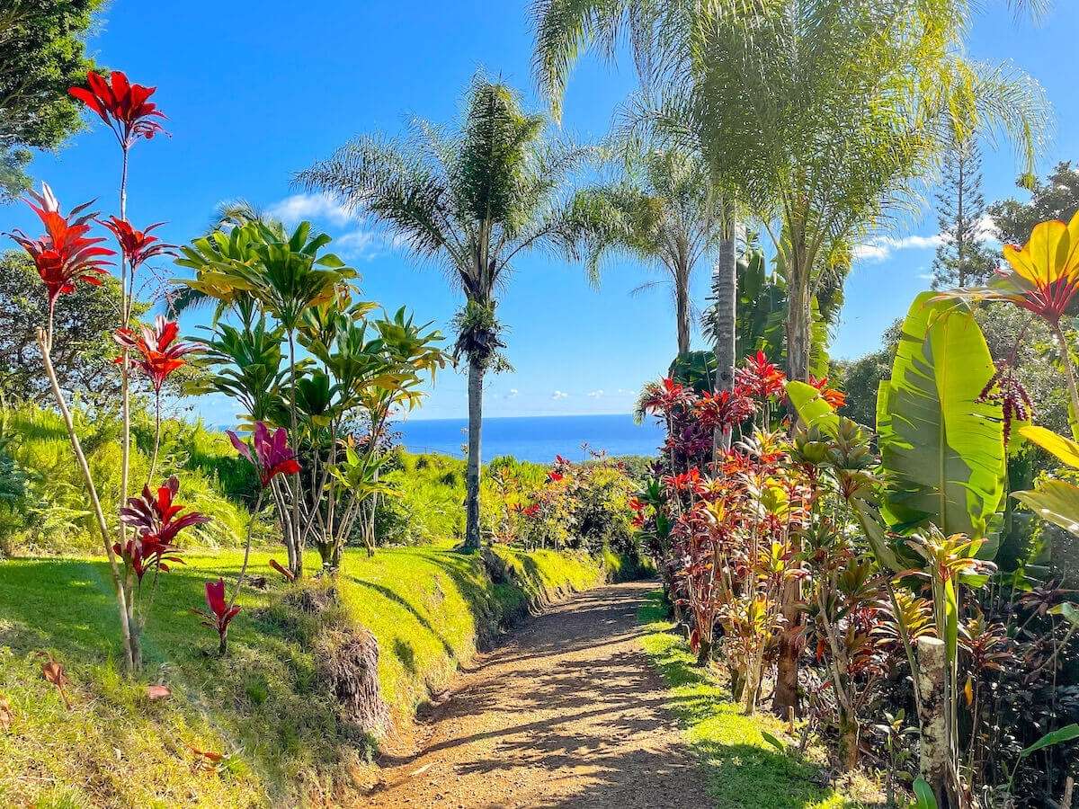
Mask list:
[[50,308],[56,305],[62,294],[73,292],[79,282],[100,286],[98,276],[107,274],[105,268],[111,263],[105,261],[105,257],[114,256],[115,251],[98,246],[104,238],[87,238],[88,222],[95,215],[83,211],[91,203],[72,208],[64,216],[52,189],[42,183],[41,193],[30,191],[26,204],[38,215],[45,227],[45,234],[30,238],[23,231],[15,230],[8,235],[33,260],[38,275],[45,284]]

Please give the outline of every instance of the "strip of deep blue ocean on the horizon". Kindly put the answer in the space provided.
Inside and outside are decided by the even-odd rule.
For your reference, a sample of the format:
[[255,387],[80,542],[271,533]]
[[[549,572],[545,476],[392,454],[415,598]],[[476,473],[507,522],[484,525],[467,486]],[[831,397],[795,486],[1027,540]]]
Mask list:
[[[412,420],[395,425],[410,452],[440,452],[464,457],[468,440],[466,419]],[[561,455],[584,461],[587,443],[610,455],[655,455],[663,430],[651,420],[634,424],[631,415],[549,415],[483,420],[482,456],[500,455],[547,464]]]

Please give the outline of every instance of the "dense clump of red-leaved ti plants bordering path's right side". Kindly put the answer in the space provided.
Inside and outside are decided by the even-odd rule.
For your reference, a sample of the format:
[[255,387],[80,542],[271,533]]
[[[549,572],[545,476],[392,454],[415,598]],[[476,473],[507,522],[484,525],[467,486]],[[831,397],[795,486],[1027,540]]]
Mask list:
[[[759,353],[737,369],[733,389],[696,394],[666,380],[642,397],[667,438],[633,519],[646,536],[666,533],[650,547],[675,614],[687,620],[701,664],[722,648],[748,713],[777,649],[800,632],[802,536],[817,519],[811,470],[792,458],[789,436],[768,425],[784,379]],[[724,433],[729,449],[715,441]]]

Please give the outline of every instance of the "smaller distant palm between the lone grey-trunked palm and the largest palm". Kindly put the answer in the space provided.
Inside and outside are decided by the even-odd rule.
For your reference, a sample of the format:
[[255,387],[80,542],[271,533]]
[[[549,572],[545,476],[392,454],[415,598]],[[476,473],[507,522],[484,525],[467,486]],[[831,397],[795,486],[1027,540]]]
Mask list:
[[598,277],[601,261],[611,253],[661,268],[673,290],[678,353],[688,354],[689,282],[698,262],[722,238],[720,196],[699,155],[631,148],[624,163],[623,176],[614,182],[583,189],[574,200],[589,273]]

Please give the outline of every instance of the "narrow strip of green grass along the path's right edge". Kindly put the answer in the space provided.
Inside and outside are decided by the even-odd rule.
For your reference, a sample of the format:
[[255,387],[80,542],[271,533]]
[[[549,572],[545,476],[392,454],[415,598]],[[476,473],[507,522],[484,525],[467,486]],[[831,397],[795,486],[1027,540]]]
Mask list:
[[723,809],[834,809],[860,807],[823,782],[819,766],[781,753],[762,731],[789,743],[774,716],[743,716],[742,705],[695,664],[681,635],[674,634],[658,592],[643,605],[644,649],[667,683],[668,707],[708,773],[709,793]]

